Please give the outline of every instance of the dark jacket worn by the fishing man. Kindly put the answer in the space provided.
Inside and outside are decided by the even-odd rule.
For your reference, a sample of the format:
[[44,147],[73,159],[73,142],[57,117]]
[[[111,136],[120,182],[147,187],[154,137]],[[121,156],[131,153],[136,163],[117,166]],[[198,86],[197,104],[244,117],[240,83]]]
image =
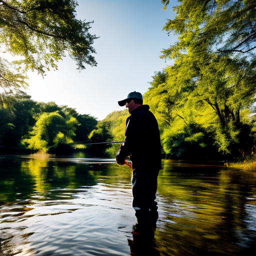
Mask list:
[[158,123],[148,105],[130,112],[126,119],[125,142],[120,147],[119,159],[130,155],[133,169],[161,169],[161,143]]

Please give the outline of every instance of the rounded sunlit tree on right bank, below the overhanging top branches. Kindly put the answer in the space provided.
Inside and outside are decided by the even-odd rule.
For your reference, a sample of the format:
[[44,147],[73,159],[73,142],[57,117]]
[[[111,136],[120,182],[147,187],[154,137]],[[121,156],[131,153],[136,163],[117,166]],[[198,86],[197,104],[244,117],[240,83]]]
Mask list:
[[223,57],[204,66],[187,55],[155,73],[143,95],[158,120],[163,152],[171,158],[196,158],[197,152],[197,157],[209,159],[220,158],[218,151],[237,155],[239,147],[248,150],[252,143],[242,141],[253,139],[245,131],[248,117],[240,120],[240,109],[255,100],[255,90],[246,90],[242,78],[233,86],[237,72],[242,73],[237,69],[232,74],[235,60]]

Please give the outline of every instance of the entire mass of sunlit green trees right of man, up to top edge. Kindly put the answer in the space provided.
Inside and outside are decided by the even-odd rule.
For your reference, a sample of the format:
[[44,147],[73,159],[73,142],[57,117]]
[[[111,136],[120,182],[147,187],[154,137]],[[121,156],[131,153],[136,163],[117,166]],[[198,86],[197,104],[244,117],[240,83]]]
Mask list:
[[[158,120],[167,156],[238,157],[255,137],[244,111],[256,99],[256,1],[180,2],[164,26],[178,41],[161,56],[174,65],[154,73],[144,102]],[[169,0],[162,3],[165,9]]]

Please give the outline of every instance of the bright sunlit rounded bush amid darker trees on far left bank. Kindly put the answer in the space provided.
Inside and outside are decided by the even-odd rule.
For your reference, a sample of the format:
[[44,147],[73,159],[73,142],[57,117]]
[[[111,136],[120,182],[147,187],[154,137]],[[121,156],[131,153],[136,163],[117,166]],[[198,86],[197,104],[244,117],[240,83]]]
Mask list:
[[51,147],[73,142],[78,121],[74,117],[63,118],[58,111],[42,113],[30,131],[30,138],[24,138],[22,143],[32,150],[47,152]]

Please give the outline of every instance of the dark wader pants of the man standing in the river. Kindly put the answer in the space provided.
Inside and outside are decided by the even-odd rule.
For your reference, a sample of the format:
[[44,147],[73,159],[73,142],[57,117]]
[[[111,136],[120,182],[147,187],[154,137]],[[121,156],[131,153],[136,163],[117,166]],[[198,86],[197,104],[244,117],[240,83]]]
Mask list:
[[[132,207],[136,211],[138,224],[155,224],[158,212],[155,193],[157,189],[158,170],[133,169]],[[154,222],[154,223],[153,223]]]

